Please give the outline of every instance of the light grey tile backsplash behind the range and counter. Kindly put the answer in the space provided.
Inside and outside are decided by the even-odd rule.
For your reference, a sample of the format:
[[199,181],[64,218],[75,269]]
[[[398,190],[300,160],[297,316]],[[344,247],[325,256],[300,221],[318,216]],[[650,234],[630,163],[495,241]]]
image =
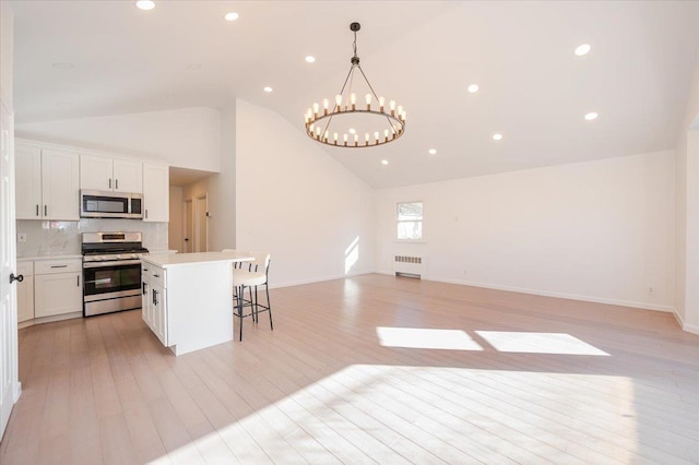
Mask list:
[[150,250],[167,250],[167,223],[143,223],[140,219],[85,218],[80,222],[38,222],[19,219],[16,231],[26,234],[26,242],[17,242],[17,258],[80,254],[81,233],[141,231],[143,246]]

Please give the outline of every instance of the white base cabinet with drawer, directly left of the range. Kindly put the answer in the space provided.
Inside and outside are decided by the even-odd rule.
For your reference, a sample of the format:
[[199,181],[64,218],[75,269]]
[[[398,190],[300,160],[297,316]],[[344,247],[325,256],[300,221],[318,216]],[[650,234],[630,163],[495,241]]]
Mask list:
[[34,263],[34,318],[82,312],[83,284],[80,259]]

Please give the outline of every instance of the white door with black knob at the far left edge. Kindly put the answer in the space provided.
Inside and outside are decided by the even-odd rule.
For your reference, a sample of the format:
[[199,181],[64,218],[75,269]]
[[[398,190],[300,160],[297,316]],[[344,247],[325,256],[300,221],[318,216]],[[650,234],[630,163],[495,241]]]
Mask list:
[[10,274],[14,249],[14,139],[10,111],[0,100],[0,438],[19,395],[16,291]]

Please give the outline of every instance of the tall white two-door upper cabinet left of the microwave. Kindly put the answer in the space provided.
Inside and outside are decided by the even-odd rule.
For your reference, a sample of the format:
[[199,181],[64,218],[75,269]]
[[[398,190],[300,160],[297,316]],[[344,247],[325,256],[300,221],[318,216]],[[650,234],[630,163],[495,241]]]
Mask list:
[[80,159],[76,153],[17,143],[16,218],[80,219]]

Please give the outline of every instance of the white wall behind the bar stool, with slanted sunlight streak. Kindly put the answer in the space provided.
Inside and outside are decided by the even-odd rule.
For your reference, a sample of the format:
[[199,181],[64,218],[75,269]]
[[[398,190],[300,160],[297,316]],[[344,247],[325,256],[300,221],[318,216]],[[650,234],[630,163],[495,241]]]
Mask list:
[[236,109],[236,248],[271,252],[272,286],[371,272],[372,189],[280,115]]

